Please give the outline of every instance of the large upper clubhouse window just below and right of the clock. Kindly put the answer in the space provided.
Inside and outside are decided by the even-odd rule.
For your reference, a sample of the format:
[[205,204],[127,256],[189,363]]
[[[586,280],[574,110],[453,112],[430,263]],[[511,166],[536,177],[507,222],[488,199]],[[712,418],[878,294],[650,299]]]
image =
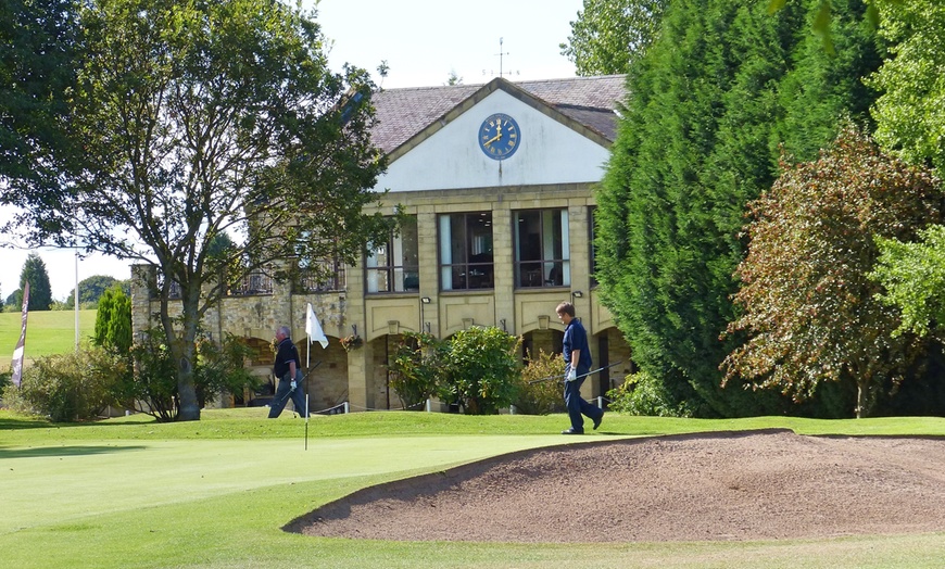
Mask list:
[[571,283],[568,211],[515,213],[515,282],[519,288]]

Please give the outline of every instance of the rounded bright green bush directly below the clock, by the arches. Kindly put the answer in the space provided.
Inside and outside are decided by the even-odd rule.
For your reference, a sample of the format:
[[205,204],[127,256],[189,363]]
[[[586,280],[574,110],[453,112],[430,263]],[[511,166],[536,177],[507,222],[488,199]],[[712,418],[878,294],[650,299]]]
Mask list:
[[449,340],[439,383],[440,399],[467,415],[491,415],[515,401],[520,339],[499,328],[459,330]]

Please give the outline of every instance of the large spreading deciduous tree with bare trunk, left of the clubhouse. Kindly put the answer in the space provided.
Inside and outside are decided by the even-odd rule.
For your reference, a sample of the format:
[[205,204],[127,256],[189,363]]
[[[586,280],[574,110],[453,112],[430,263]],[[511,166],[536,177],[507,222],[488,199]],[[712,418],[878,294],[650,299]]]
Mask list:
[[[300,254],[354,263],[389,231],[362,213],[383,168],[373,86],[362,69],[330,72],[317,23],[278,1],[83,5],[68,106],[80,167],[52,181],[4,173],[2,199],[22,208],[7,229],[156,267],[178,417],[199,419],[198,327],[230,282],[285,276]],[[238,246],[211,255],[223,232]]]

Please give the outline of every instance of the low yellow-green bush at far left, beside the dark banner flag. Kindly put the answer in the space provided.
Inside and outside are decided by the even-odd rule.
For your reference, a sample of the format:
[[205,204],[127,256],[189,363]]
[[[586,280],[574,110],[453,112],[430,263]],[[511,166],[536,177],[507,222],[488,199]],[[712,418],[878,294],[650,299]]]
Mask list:
[[3,400],[56,422],[94,419],[117,404],[116,387],[127,371],[125,359],[99,347],[45,356],[24,369],[20,389],[8,387]]

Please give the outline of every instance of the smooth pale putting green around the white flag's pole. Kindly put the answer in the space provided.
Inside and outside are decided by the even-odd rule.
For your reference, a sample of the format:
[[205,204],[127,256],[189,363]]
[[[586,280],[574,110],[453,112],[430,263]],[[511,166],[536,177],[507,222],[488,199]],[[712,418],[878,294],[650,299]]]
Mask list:
[[406,476],[560,443],[547,435],[453,435],[310,439],[307,451],[301,439],[8,446],[0,448],[0,533],[279,484]]

